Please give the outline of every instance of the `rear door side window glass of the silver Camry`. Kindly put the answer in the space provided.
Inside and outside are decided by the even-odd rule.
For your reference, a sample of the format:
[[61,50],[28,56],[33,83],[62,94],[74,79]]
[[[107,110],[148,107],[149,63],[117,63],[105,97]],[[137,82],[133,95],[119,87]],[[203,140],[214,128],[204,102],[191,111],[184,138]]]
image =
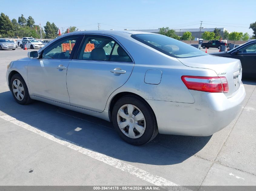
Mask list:
[[77,59],[132,62],[125,50],[112,38],[98,35],[85,37],[85,40],[78,51]]

